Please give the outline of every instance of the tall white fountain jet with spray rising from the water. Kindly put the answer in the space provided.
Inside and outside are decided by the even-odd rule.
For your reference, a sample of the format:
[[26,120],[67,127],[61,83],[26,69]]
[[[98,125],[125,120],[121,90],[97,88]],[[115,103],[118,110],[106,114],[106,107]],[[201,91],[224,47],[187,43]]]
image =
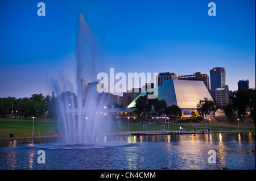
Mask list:
[[[79,14],[79,35],[77,43],[76,83],[64,77],[53,81],[60,120],[63,120],[67,145],[86,145],[100,141],[111,129],[111,119],[106,112],[106,94],[98,93],[97,73],[102,63],[97,58],[96,43],[82,13]],[[86,85],[86,82],[88,85]],[[67,85],[70,86],[67,86]],[[76,94],[72,91],[77,92]]]

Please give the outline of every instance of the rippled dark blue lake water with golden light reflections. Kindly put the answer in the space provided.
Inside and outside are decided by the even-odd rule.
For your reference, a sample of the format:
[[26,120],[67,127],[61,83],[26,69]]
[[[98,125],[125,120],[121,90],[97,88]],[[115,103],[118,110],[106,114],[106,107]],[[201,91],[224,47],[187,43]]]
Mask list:
[[[102,140],[102,141],[100,141]],[[97,137],[98,144],[60,140],[0,141],[0,169],[255,169],[255,133]],[[46,152],[39,164],[38,150]],[[216,163],[208,163],[208,151]]]

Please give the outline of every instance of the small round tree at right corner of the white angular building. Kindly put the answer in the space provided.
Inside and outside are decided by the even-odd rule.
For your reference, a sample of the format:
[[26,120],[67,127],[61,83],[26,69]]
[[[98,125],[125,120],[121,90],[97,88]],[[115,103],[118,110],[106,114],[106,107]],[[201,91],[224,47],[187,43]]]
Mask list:
[[209,115],[210,111],[213,113],[217,111],[217,108],[213,102],[213,100],[209,100],[208,98],[200,99],[199,103],[196,105],[197,112],[207,119],[207,115]]

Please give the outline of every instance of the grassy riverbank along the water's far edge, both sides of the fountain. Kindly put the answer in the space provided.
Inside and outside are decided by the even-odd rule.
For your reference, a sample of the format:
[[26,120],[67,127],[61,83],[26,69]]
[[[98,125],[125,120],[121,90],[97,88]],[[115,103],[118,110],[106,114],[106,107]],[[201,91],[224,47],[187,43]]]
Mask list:
[[[32,119],[0,119],[0,140],[14,140],[14,139],[37,139],[37,138],[52,138],[63,135],[61,131],[61,123],[56,120],[35,120],[34,121],[34,136],[32,137]],[[58,125],[58,127],[57,127]],[[253,123],[240,122],[239,130],[238,124],[230,124],[229,122],[212,121],[211,124],[200,123],[158,123],[146,124],[142,123],[113,123],[111,134],[113,135],[132,135],[133,132],[147,131],[170,131],[179,132],[182,127],[184,131],[208,130],[211,132],[255,132],[255,125]],[[170,133],[169,132],[169,133]],[[12,134],[13,137],[10,137]],[[181,134],[183,134],[181,132]]]

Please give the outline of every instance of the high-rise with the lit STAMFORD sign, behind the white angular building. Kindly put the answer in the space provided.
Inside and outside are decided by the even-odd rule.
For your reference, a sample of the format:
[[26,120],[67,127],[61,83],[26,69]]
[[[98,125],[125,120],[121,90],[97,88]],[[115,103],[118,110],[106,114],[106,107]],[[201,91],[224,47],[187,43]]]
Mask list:
[[201,74],[201,72],[196,72],[193,75],[179,75],[178,79],[187,81],[203,81],[208,91],[210,91],[210,81],[207,74]]

